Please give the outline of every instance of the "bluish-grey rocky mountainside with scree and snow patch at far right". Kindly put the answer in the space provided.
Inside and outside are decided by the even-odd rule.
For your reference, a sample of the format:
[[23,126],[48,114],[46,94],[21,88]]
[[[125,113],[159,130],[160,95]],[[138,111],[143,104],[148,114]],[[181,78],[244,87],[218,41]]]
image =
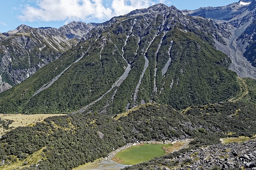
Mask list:
[[[229,55],[230,70],[240,77],[256,78],[256,0],[243,0],[228,6],[184,10],[184,14],[212,18],[231,33],[222,35],[225,43],[216,42],[216,47]],[[225,46],[224,46],[225,45]]]

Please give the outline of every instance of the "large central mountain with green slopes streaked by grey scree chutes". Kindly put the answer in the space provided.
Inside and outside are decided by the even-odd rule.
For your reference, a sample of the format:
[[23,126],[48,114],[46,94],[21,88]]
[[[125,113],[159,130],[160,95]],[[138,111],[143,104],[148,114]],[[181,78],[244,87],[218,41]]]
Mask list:
[[150,102],[183,109],[228,100],[239,84],[214,48],[214,37],[229,35],[216,25],[164,4],[114,17],[1,93],[0,112],[113,114]]

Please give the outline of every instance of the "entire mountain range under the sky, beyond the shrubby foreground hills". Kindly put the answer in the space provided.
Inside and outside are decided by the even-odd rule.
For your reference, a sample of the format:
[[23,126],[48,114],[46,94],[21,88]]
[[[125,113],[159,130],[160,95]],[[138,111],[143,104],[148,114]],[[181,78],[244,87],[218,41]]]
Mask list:
[[41,69],[0,95],[0,112],[120,113],[149,102],[182,109],[227,100],[239,90],[237,74],[256,77],[255,4],[194,11],[157,4],[101,24],[21,25],[0,41],[2,84]]

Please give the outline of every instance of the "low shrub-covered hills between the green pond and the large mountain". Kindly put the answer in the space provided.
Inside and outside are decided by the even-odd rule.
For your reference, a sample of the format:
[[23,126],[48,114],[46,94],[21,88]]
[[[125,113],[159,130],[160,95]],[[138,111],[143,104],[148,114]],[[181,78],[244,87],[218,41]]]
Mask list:
[[[33,127],[13,129],[0,139],[0,160],[6,162],[0,169],[20,164],[20,168],[72,169],[134,141],[194,138],[190,145],[200,147],[219,143],[226,133],[252,136],[256,134],[255,113],[253,106],[224,102],[194,106],[185,113],[147,104],[116,115],[117,120],[98,113],[49,117]],[[27,158],[38,152],[42,157],[28,164]]]

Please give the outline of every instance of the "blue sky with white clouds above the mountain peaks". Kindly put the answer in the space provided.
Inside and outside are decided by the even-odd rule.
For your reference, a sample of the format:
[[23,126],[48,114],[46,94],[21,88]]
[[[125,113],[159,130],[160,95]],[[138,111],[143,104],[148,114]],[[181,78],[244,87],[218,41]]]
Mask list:
[[183,10],[225,6],[239,0],[2,0],[0,32],[21,24],[30,27],[59,28],[71,21],[102,23],[138,9],[163,3]]

